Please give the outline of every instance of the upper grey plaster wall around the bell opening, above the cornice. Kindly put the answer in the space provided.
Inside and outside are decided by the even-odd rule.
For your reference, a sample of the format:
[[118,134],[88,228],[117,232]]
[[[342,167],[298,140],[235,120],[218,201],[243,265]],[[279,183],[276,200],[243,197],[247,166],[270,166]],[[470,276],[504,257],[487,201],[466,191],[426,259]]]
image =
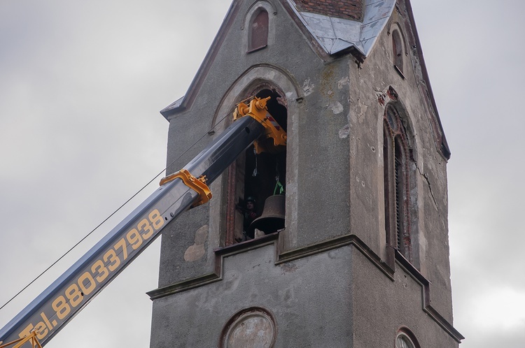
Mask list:
[[[345,58],[329,59],[330,64],[327,64],[280,1],[260,3],[265,6],[272,3],[276,12],[269,13],[272,29],[267,48],[249,54],[245,52],[243,43],[248,33],[243,29],[244,15],[253,9],[253,2],[235,1],[232,22],[202,85],[197,89],[195,101],[187,110],[169,117],[167,162],[172,164],[183,150],[204,134],[184,160],[169,165],[169,172],[179,170],[211,140],[213,135],[205,134],[212,126],[216,126],[216,134],[220,133],[225,124],[221,119],[231,113],[235,102],[245,97],[256,83],[268,82],[283,89],[289,113],[286,171],[290,194],[286,201],[286,231],[281,238],[283,250],[287,250],[349,231],[349,139],[339,136],[348,127],[348,61]],[[255,67],[266,69],[266,75],[262,73],[258,80],[246,82],[244,88],[239,87],[239,81]],[[285,75],[288,85],[294,86],[295,90],[279,85],[274,71]],[[239,92],[232,95],[232,91]],[[228,106],[225,101],[234,102]],[[217,114],[218,110],[221,114]],[[223,115],[223,110],[229,112]],[[224,186],[224,180],[216,180],[211,185],[214,198],[209,203],[210,208],[197,208],[193,215],[181,217],[170,224],[169,231],[162,236],[161,287],[214,271],[213,250],[223,246],[220,212],[225,202]],[[209,211],[213,212],[215,219],[209,217]],[[207,224],[209,233],[202,259],[188,262],[181,255],[194,244],[195,231],[201,227],[195,224],[195,219]]]

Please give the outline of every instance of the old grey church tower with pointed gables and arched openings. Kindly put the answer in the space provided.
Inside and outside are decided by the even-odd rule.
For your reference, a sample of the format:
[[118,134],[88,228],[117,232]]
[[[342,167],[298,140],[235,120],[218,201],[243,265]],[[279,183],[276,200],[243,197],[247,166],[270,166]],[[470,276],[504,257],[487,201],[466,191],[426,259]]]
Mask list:
[[[233,0],[161,111],[168,174],[253,96],[286,150],[249,147],[167,227],[151,347],[458,347],[450,152],[409,0]],[[261,215],[279,184],[284,229],[245,233],[239,206]]]

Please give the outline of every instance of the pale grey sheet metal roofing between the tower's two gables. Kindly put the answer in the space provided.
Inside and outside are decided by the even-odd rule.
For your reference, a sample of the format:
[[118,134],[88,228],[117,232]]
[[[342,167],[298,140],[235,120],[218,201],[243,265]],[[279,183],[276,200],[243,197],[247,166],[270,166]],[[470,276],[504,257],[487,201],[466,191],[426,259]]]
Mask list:
[[297,17],[329,55],[356,48],[364,57],[370,54],[377,36],[384,29],[395,7],[395,0],[365,0],[363,22],[300,12],[288,0]]

